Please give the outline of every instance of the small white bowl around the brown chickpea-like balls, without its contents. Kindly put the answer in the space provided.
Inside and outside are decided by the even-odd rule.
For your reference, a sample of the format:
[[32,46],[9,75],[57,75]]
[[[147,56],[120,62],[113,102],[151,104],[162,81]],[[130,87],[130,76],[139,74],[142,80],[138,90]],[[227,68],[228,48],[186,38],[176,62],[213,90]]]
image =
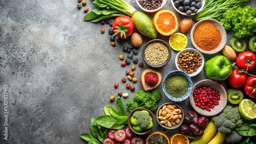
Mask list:
[[192,74],[188,74],[190,77],[194,77],[194,76],[198,75],[198,74],[202,71],[202,69],[203,69],[203,67],[204,67],[204,56],[203,56],[203,54],[202,54],[201,52],[199,52],[198,50],[193,49],[193,48],[186,48],[186,49],[184,49],[184,50],[181,50],[181,51],[176,55],[176,58],[175,58],[175,65],[176,65],[177,69],[180,70],[180,68],[179,68],[179,66],[178,66],[178,63],[177,63],[177,62],[178,62],[178,59],[179,59],[179,56],[180,56],[182,53],[186,53],[186,52],[190,52],[190,51],[196,52],[197,54],[199,54],[200,57],[202,57],[202,65],[199,66],[199,68],[197,69],[196,72],[194,72],[194,73],[192,73]]

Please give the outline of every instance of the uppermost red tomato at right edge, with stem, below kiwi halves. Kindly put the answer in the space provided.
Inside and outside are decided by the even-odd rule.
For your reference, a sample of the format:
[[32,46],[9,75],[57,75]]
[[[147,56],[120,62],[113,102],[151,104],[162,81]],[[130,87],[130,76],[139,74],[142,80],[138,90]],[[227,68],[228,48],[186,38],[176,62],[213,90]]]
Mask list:
[[244,51],[238,54],[236,58],[236,63],[239,68],[247,69],[248,71],[252,70],[256,65],[256,56],[251,51]]

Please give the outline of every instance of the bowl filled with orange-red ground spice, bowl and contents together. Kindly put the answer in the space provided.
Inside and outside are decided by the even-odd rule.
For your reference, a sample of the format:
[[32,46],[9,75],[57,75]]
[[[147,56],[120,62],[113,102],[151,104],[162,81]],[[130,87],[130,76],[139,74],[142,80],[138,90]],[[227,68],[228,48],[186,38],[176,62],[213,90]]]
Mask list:
[[223,49],[227,41],[227,33],[218,20],[206,18],[194,25],[190,39],[198,51],[210,55]]

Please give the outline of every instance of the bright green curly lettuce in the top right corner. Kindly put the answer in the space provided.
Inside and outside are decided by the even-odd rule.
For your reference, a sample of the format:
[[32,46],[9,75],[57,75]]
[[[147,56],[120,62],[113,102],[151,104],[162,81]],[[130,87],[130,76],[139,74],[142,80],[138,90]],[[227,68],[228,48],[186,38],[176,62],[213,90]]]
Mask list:
[[237,38],[256,34],[256,8],[228,9],[220,20],[226,30],[232,30]]

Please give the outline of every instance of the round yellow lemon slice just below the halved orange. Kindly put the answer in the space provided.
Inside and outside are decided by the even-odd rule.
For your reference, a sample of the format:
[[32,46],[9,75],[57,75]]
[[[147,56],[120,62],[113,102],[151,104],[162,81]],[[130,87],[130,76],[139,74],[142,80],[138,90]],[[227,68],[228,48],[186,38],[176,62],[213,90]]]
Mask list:
[[181,51],[187,46],[187,37],[182,33],[174,33],[169,38],[169,45],[175,51]]

